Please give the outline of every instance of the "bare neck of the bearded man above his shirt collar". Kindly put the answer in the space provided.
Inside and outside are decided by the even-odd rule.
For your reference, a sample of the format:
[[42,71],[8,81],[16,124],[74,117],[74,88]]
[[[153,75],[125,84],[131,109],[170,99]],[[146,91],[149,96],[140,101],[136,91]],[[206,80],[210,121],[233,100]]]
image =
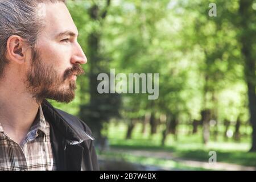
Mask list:
[[22,81],[0,81],[0,123],[5,133],[20,143],[35,120],[39,105],[24,91]]

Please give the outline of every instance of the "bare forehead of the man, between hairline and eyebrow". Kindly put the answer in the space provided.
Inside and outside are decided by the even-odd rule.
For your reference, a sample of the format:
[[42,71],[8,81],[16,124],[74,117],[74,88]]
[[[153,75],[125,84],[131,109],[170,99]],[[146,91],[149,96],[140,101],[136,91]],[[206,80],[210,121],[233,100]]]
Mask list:
[[51,37],[64,31],[71,31],[78,34],[71,14],[64,3],[40,3],[38,8],[38,15],[44,19],[42,34]]

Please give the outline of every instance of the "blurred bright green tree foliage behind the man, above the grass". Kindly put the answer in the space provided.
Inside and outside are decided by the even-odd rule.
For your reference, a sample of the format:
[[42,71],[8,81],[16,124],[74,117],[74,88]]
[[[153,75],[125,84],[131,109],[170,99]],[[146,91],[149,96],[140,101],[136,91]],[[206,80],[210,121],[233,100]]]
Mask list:
[[[246,31],[241,27],[244,17],[238,14],[238,0],[214,1],[216,17],[208,16],[210,2],[205,0],[113,0],[106,6],[107,2],[68,2],[88,64],[84,65],[86,74],[78,80],[76,100],[71,105],[54,105],[91,123],[107,122],[117,115],[126,123],[142,122],[147,113],[155,113],[161,122],[158,142],[169,121],[176,119],[179,125],[192,127],[205,109],[217,121],[217,131],[225,131],[225,120],[234,125],[240,118],[243,125],[249,124],[240,38],[250,35],[255,60],[255,1]],[[96,6],[97,18],[93,18],[90,13]],[[106,16],[101,16],[104,12]],[[158,100],[148,100],[147,94],[94,95],[97,74],[109,73],[110,68],[116,74],[159,73]],[[256,80],[255,76],[250,79]],[[101,130],[100,125],[96,126]],[[241,130],[250,134],[250,129]],[[167,144],[168,140],[170,137]]]

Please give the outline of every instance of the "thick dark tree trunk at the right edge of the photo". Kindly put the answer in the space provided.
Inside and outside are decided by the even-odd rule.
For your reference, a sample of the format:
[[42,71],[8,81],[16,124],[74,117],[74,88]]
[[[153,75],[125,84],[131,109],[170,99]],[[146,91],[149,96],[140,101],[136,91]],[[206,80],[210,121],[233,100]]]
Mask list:
[[252,9],[253,0],[240,0],[240,24],[242,54],[245,59],[245,78],[248,88],[248,100],[250,111],[250,122],[253,127],[252,143],[250,151],[256,151],[256,94],[255,94],[255,57],[253,57],[253,44],[255,44],[256,32],[253,30],[253,19],[255,13]]

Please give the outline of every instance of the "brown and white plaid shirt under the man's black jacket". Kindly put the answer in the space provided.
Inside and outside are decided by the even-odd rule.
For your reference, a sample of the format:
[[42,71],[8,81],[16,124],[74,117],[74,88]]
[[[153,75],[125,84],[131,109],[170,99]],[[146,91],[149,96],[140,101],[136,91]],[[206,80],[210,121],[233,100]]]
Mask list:
[[0,121],[0,171],[56,170],[49,136],[49,123],[39,107],[36,119],[22,144],[11,140]]

